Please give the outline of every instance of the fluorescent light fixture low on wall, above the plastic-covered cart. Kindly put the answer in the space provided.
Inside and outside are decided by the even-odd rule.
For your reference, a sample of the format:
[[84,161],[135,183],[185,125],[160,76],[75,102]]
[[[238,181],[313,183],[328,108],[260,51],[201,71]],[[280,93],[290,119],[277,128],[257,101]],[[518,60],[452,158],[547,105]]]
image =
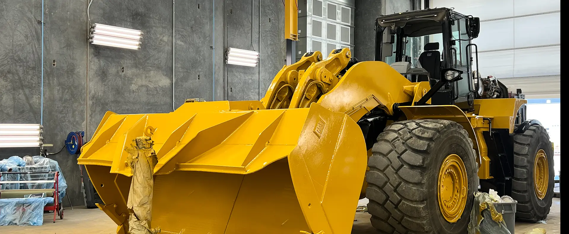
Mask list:
[[39,124],[0,124],[0,148],[42,146],[42,129]]

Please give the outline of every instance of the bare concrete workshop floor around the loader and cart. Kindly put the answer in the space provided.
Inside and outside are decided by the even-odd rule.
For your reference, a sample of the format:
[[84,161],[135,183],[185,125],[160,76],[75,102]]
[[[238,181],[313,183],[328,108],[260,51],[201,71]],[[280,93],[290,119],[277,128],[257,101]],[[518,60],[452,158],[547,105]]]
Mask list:
[[[363,203],[365,201],[361,201]],[[366,202],[365,202],[366,203]],[[553,198],[551,212],[547,218],[547,224],[537,223],[516,223],[516,234],[523,234],[531,231],[533,228],[545,228],[547,234],[559,234],[561,221],[561,200]],[[376,234],[376,229],[369,222],[370,215],[368,213],[356,213],[356,221],[352,233],[355,234]],[[35,227],[17,227],[17,226],[0,226],[0,233],[35,233],[35,234],[63,234],[63,233],[81,233],[81,234],[114,234],[116,232],[116,224],[114,224],[104,212],[98,209],[78,209],[65,210],[63,220],[59,218],[52,223],[52,215],[44,215],[43,226]]]

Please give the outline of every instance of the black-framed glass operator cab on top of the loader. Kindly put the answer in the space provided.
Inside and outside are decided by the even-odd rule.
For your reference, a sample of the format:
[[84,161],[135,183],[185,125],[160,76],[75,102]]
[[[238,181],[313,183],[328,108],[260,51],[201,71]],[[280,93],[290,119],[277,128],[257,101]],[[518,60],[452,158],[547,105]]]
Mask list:
[[[478,37],[479,18],[452,8],[434,8],[382,15],[376,21],[376,61],[391,65],[411,82],[429,81],[432,105],[474,105],[471,40]],[[453,70],[459,77],[444,79]],[[478,69],[476,69],[478,70]],[[458,71],[458,73],[456,73]],[[452,78],[452,77],[451,77]]]

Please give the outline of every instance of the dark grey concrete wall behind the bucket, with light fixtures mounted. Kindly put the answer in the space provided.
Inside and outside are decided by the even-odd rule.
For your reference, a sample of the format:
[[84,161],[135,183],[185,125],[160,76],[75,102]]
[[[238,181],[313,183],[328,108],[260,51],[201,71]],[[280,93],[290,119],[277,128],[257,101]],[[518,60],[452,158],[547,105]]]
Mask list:
[[[264,96],[285,64],[281,1],[176,1],[174,19],[168,1],[94,0],[91,22],[141,29],[140,50],[88,44],[86,0],[43,5],[42,111],[42,1],[0,1],[0,123],[37,124],[43,113],[51,152],[69,131],[90,138],[108,110],[164,113],[174,109],[172,101],[178,108],[192,97],[258,100],[259,83]],[[259,67],[226,65],[230,46],[259,51]],[[0,159],[12,155],[38,155],[38,149],[0,148]],[[83,205],[77,156],[64,150],[50,157],[59,161],[73,205]]]

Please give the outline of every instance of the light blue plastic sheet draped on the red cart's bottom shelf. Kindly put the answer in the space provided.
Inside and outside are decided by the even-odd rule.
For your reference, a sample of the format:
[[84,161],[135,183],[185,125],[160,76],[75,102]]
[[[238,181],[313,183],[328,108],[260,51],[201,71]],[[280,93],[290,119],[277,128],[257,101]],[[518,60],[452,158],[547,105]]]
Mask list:
[[40,226],[48,203],[53,203],[52,197],[0,199],[0,226]]

